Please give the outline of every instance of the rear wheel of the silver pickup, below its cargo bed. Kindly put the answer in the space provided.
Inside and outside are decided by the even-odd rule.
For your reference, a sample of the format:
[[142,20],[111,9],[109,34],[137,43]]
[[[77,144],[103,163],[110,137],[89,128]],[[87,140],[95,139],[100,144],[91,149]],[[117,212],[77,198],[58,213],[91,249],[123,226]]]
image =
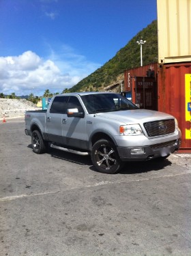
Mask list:
[[36,154],[42,154],[48,150],[48,143],[42,139],[42,135],[38,130],[33,130],[31,136],[31,143],[33,152]]

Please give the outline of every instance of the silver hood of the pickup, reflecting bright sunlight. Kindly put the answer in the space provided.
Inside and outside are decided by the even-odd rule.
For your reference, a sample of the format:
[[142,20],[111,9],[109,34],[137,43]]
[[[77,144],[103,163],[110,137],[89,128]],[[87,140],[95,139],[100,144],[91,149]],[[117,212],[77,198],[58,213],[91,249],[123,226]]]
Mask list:
[[153,122],[160,119],[174,119],[172,115],[159,111],[151,111],[147,109],[132,109],[126,111],[114,111],[96,114],[99,117],[115,119],[119,122],[128,123],[145,123]]

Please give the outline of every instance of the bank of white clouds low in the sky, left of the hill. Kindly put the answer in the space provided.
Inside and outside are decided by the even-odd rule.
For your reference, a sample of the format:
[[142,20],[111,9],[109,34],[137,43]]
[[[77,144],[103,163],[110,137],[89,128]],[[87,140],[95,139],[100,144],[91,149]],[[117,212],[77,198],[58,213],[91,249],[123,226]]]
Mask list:
[[46,89],[55,93],[70,88],[99,68],[66,48],[61,55],[51,51],[43,59],[32,51],[19,56],[0,57],[0,93],[42,96]]

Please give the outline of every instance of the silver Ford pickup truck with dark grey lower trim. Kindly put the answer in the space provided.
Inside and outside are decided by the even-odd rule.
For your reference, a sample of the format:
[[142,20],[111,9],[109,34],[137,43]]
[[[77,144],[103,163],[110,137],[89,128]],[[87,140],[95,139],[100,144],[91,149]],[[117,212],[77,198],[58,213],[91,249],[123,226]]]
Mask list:
[[126,161],[166,158],[179,150],[181,138],[172,115],[104,92],[56,95],[47,111],[26,111],[25,126],[36,154],[48,147],[90,154],[102,173],[115,173]]

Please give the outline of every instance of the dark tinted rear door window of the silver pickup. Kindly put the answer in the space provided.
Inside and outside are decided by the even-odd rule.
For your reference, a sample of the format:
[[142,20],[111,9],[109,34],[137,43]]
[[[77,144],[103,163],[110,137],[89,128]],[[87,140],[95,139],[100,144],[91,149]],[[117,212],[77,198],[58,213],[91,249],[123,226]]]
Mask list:
[[57,96],[50,107],[50,113],[65,114],[68,96]]

